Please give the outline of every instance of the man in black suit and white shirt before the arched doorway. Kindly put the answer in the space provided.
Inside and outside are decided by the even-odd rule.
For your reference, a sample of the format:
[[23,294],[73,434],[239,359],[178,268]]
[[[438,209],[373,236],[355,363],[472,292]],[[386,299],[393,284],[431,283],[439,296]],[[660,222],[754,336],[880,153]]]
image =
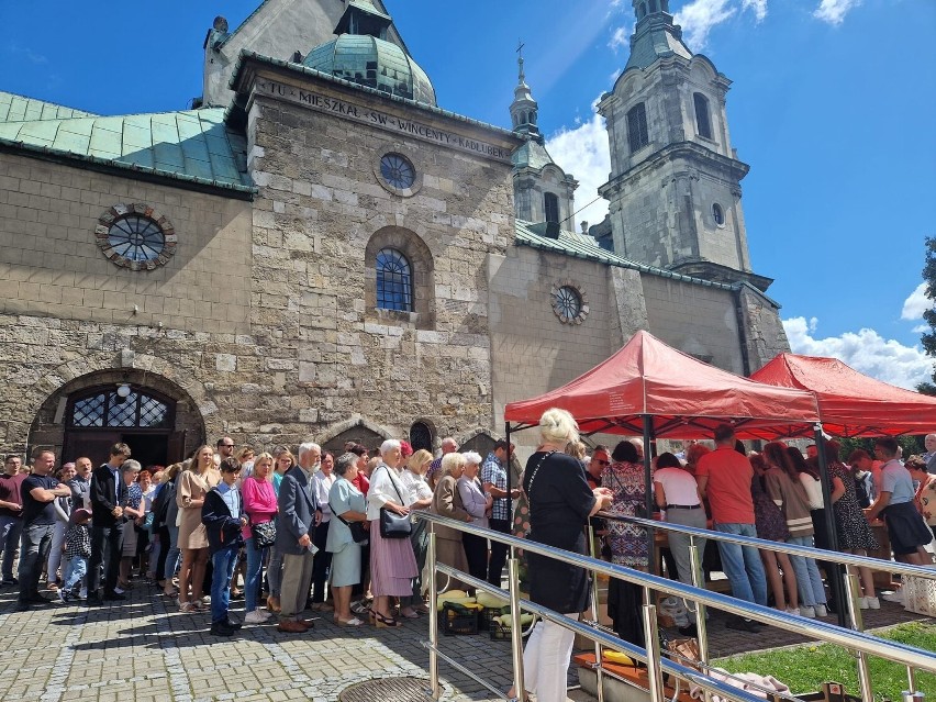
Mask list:
[[130,458],[130,446],[114,444],[108,463],[91,473],[91,557],[88,559],[88,605],[102,604],[99,592],[104,566],[104,600],[125,600],[116,592],[123,550],[123,508],[126,483],[121,466]]

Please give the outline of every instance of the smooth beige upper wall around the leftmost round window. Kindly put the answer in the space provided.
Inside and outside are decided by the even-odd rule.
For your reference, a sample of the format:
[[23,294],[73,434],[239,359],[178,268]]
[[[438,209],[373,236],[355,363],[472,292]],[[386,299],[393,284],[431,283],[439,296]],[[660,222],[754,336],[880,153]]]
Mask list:
[[[248,202],[0,154],[0,314],[187,332],[245,333]],[[161,212],[178,237],[155,270],[130,270],[97,245],[116,204]]]

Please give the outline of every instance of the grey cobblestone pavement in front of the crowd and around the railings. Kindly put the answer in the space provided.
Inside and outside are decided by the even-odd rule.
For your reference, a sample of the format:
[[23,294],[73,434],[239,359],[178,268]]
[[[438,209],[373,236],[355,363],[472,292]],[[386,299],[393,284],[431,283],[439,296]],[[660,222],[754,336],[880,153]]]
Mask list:
[[[245,626],[237,636],[219,639],[208,633],[208,614],[181,614],[168,599],[143,584],[129,594],[126,602],[103,608],[48,605],[21,613],[13,611],[15,592],[0,591],[0,650],[5,651],[0,657],[0,700],[331,702],[355,682],[427,677],[428,654],[423,646],[427,617],[406,621],[400,629],[349,629],[335,626],[330,614],[323,614],[304,635],[280,634],[268,624]],[[869,613],[869,627],[920,619],[896,604],[882,605]],[[235,606],[233,617],[243,617],[243,603]],[[803,640],[809,640],[807,631],[796,636],[768,627],[756,637],[732,632],[717,613],[713,615],[713,655]],[[481,633],[441,637],[441,647],[497,688],[510,686],[508,642],[494,642]],[[439,662],[439,671],[444,700],[493,699],[445,661]]]

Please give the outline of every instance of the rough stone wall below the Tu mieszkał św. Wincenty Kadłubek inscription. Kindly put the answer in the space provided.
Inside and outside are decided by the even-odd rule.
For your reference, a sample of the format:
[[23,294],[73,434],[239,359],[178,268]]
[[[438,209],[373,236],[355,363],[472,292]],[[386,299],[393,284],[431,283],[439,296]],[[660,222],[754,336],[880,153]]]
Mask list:
[[[469,129],[334,83],[275,79],[360,113],[379,110],[447,133]],[[475,138],[505,138],[470,129]],[[397,436],[415,421],[438,436],[489,427],[486,261],[513,237],[510,164],[257,92],[248,143],[260,188],[250,322],[256,336],[276,338],[265,364],[302,403],[303,422],[331,434],[359,414]],[[386,153],[411,160],[415,192],[381,183]],[[372,303],[369,257],[381,246],[402,250],[414,266],[413,313]],[[260,397],[272,390],[265,386]]]

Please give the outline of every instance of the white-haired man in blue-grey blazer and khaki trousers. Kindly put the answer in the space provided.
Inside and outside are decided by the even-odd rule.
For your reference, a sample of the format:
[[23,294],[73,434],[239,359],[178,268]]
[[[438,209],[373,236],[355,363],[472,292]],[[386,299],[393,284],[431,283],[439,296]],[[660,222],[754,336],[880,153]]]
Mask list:
[[282,610],[277,628],[287,634],[301,634],[312,628],[312,622],[304,621],[301,614],[312,582],[312,538],[322,519],[312,481],[321,457],[317,444],[301,444],[299,465],[286,471],[279,486],[276,546],[282,554]]

